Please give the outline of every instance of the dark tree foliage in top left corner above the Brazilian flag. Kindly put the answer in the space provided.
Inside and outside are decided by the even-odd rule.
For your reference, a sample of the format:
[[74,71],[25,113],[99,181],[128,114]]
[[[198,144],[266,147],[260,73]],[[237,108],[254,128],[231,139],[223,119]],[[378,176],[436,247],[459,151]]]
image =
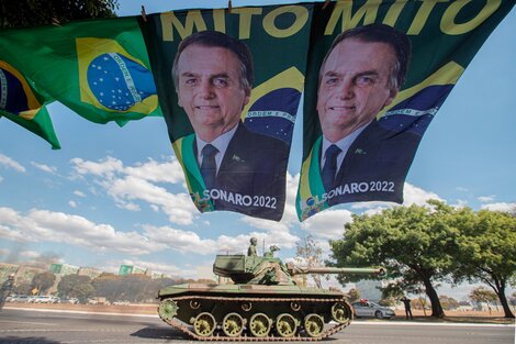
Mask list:
[[0,27],[64,24],[70,20],[115,16],[117,0],[0,1]]

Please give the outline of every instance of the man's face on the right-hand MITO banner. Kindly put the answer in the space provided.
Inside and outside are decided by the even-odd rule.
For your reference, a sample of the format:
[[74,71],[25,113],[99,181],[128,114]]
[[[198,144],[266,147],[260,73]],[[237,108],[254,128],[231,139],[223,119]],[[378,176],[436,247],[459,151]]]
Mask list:
[[394,63],[394,51],[385,43],[346,38],[335,46],[322,67],[317,93],[321,126],[329,141],[344,138],[391,103]]

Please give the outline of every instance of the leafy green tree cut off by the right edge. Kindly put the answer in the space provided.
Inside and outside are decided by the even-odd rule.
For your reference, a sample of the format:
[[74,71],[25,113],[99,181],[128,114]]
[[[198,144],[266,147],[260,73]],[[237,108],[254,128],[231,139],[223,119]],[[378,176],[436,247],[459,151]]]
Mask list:
[[497,211],[464,210],[457,226],[461,235],[453,279],[486,284],[498,297],[505,318],[514,318],[505,289],[516,274],[516,218]]

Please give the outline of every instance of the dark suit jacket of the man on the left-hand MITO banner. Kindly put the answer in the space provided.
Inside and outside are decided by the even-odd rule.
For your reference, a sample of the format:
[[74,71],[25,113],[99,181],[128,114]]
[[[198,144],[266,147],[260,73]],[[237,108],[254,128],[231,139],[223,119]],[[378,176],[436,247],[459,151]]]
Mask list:
[[[195,141],[193,151],[197,154]],[[280,220],[285,201],[289,145],[239,124],[213,187],[206,191],[215,210]]]

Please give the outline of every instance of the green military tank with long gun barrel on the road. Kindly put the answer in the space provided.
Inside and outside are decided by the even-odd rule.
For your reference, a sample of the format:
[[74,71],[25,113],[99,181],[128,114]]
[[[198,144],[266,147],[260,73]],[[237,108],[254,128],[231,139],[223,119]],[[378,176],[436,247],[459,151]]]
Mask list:
[[[253,243],[253,242],[251,242]],[[250,247],[251,248],[251,247]],[[183,284],[159,290],[162,321],[200,341],[317,341],[348,326],[351,306],[339,291],[299,286],[302,274],[382,274],[373,268],[300,268],[273,256],[217,255],[227,284]]]

